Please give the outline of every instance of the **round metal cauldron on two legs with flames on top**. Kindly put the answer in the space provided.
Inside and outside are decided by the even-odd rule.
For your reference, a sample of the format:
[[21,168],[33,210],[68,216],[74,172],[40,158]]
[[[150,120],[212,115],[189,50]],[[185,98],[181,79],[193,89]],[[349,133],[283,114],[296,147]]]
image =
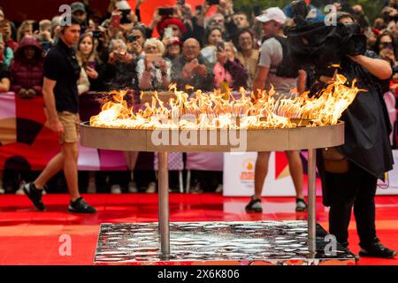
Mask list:
[[[147,103],[146,109],[138,114],[126,111],[126,103],[121,99],[123,94],[118,94],[119,98],[115,98],[115,102],[111,104],[105,104],[103,111],[93,117],[90,123],[85,122],[80,125],[80,142],[83,146],[96,149],[158,152],[158,225],[161,253],[165,258],[172,252],[168,152],[308,149],[308,247],[310,251],[315,252],[316,149],[335,147],[344,143],[344,123],[338,119],[360,91],[355,87],[355,82],[350,87],[345,84],[345,78],[338,76],[337,80],[325,88],[319,96],[307,98],[306,94],[303,94],[293,100],[280,97],[275,99],[272,91],[270,93],[259,91],[257,97],[260,98],[254,103],[253,97],[246,96],[244,91],[241,91],[241,98],[232,98],[232,101],[231,94],[226,96],[215,91],[213,96],[211,94],[205,96],[211,103],[203,103],[200,101],[203,99],[200,91],[196,92],[193,101],[188,100],[188,96],[181,96],[182,92],[174,89],[177,99],[170,99],[167,106],[157,94],[154,94],[152,105]],[[222,103],[217,102],[218,98]],[[294,103],[290,103],[291,101]],[[233,108],[234,103],[239,105],[238,110]],[[192,111],[192,107],[189,108],[193,104],[197,106],[195,111]],[[242,111],[247,117],[241,118]],[[193,114],[195,126],[187,121],[183,121],[182,124],[181,121],[171,123],[173,115],[175,117],[176,113],[181,112]],[[209,112],[216,114],[213,119],[209,119]],[[231,115],[225,116],[225,112],[237,113],[238,118],[231,122]],[[101,117],[103,113],[105,114]],[[163,123],[159,118],[154,119],[159,113],[168,119]],[[252,119],[253,117],[256,119]],[[137,122],[139,120],[141,121]],[[203,124],[203,121],[206,123]],[[243,145],[236,143],[238,136],[240,141],[244,142]]]

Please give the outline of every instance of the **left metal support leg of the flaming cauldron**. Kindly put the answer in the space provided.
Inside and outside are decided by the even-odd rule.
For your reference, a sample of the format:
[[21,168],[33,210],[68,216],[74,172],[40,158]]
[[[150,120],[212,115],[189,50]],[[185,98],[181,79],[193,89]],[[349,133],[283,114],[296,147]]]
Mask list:
[[159,231],[162,256],[170,256],[169,172],[167,152],[158,153]]

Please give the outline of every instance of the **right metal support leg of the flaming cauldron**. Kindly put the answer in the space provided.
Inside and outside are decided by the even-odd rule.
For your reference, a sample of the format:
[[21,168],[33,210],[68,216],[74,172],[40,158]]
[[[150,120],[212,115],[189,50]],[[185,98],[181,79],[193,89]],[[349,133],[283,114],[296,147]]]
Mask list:
[[317,247],[317,149],[308,149],[308,248],[315,256]]

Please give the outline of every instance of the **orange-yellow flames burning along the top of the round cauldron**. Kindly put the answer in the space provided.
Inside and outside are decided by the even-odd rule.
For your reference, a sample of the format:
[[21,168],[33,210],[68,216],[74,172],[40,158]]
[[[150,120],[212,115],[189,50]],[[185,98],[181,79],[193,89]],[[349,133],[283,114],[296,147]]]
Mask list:
[[[168,103],[152,94],[152,102],[145,103],[143,110],[134,113],[123,97],[126,91],[111,93],[113,101],[105,103],[102,111],[91,117],[90,126],[127,129],[263,129],[296,126],[335,125],[349,104],[362,91],[356,81],[350,87],[347,79],[338,74],[331,84],[317,97],[308,97],[308,92],[295,99],[275,98],[273,88],[269,93],[257,91],[248,96],[240,89],[240,98],[235,98],[231,89],[226,92],[214,90],[203,93],[196,90],[188,97],[175,84],[170,91],[175,95]],[[192,88],[187,86],[187,89]],[[256,97],[259,97],[256,99]],[[302,125],[302,121],[309,121]]]

